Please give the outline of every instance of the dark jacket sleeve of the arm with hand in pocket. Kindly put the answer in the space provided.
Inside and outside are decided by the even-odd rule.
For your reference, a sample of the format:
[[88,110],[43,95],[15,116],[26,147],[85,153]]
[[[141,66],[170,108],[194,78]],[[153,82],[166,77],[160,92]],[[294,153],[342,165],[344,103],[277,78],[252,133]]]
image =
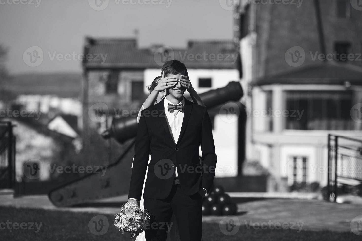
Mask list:
[[201,124],[201,151],[202,151],[202,188],[209,193],[215,177],[217,156],[215,154],[214,138],[209,113],[204,110]]

